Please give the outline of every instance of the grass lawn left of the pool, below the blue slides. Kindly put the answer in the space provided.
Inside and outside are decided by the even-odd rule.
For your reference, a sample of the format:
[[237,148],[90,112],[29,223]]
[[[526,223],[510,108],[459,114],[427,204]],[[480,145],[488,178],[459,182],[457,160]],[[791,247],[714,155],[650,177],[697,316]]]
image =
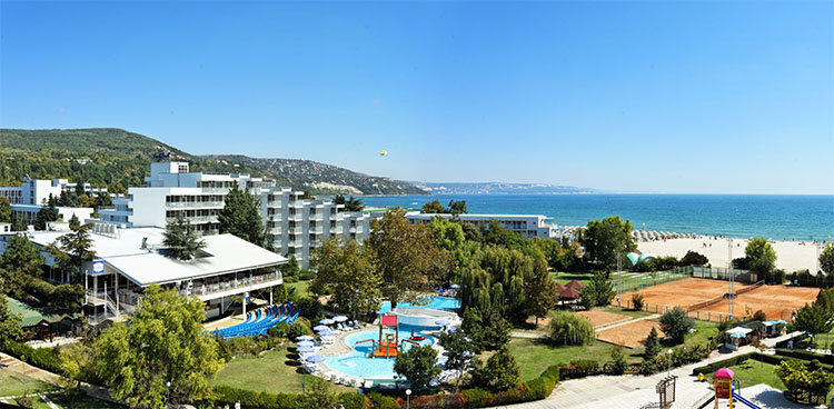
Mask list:
[[[235,388],[258,390],[270,393],[301,392],[302,379],[312,378],[305,375],[295,353],[286,348],[267,351],[261,357],[241,357],[227,363],[217,373],[210,385],[226,385]],[[338,392],[355,391],[353,388],[332,386]]]

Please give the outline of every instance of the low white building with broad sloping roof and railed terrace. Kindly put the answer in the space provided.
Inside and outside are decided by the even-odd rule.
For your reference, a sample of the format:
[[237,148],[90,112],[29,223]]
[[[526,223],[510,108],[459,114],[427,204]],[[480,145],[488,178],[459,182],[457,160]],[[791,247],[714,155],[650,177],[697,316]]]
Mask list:
[[[189,261],[167,255],[162,228],[119,228],[93,223],[90,228],[97,259],[81,268],[86,291],[85,311],[91,320],[132,312],[142,291],[156,283],[176,289],[182,296],[195,296],[208,305],[206,316],[222,315],[232,297],[262,291],[271,302],[271,288],[284,282],[279,271],[287,259],[231,235],[205,237],[206,247]],[[26,237],[44,253],[46,247],[67,231],[30,231]],[[0,235],[0,255],[12,235]],[[46,276],[53,282],[68,277]]]

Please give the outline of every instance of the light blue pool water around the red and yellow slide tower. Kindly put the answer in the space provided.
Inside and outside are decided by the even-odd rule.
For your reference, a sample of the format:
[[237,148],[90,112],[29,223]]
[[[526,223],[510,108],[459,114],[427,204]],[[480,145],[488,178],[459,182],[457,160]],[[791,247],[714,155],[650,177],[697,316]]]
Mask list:
[[[426,337],[426,339],[418,341],[420,346],[429,346],[435,343],[435,339],[421,333],[421,330],[426,328],[415,328],[410,326],[399,326],[399,339],[407,339],[411,336],[411,330],[415,335]],[[436,329],[436,328],[433,328]],[[388,332],[388,331],[386,331]],[[368,358],[368,353],[373,350],[373,342],[364,342],[357,345],[358,341],[374,339],[379,340],[379,328],[369,329],[366,331],[351,333],[345,338],[345,342],[353,347],[353,352],[341,357],[326,357],[325,363],[332,370],[339,371],[354,377],[364,379],[375,380],[391,380],[394,379],[394,358]],[[404,349],[408,350],[411,347],[410,343],[404,343]]]

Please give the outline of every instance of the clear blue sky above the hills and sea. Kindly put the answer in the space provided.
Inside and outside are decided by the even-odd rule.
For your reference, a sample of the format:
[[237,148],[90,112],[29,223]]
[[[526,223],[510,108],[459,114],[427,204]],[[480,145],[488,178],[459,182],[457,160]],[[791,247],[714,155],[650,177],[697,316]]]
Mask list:
[[831,194],[834,2],[2,0],[0,127],[404,180]]

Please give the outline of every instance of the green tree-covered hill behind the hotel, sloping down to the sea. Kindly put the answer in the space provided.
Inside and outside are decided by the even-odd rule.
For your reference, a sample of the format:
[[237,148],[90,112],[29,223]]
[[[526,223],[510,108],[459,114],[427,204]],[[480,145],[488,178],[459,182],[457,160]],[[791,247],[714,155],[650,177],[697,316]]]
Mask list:
[[170,153],[171,160],[190,162],[192,171],[251,173],[312,194],[424,193],[407,182],[307,160],[192,156],[156,139],[113,128],[0,129],[0,186],[19,183],[29,174],[33,179],[67,178],[125,192],[130,186],[145,186],[153,154],[160,152]]

